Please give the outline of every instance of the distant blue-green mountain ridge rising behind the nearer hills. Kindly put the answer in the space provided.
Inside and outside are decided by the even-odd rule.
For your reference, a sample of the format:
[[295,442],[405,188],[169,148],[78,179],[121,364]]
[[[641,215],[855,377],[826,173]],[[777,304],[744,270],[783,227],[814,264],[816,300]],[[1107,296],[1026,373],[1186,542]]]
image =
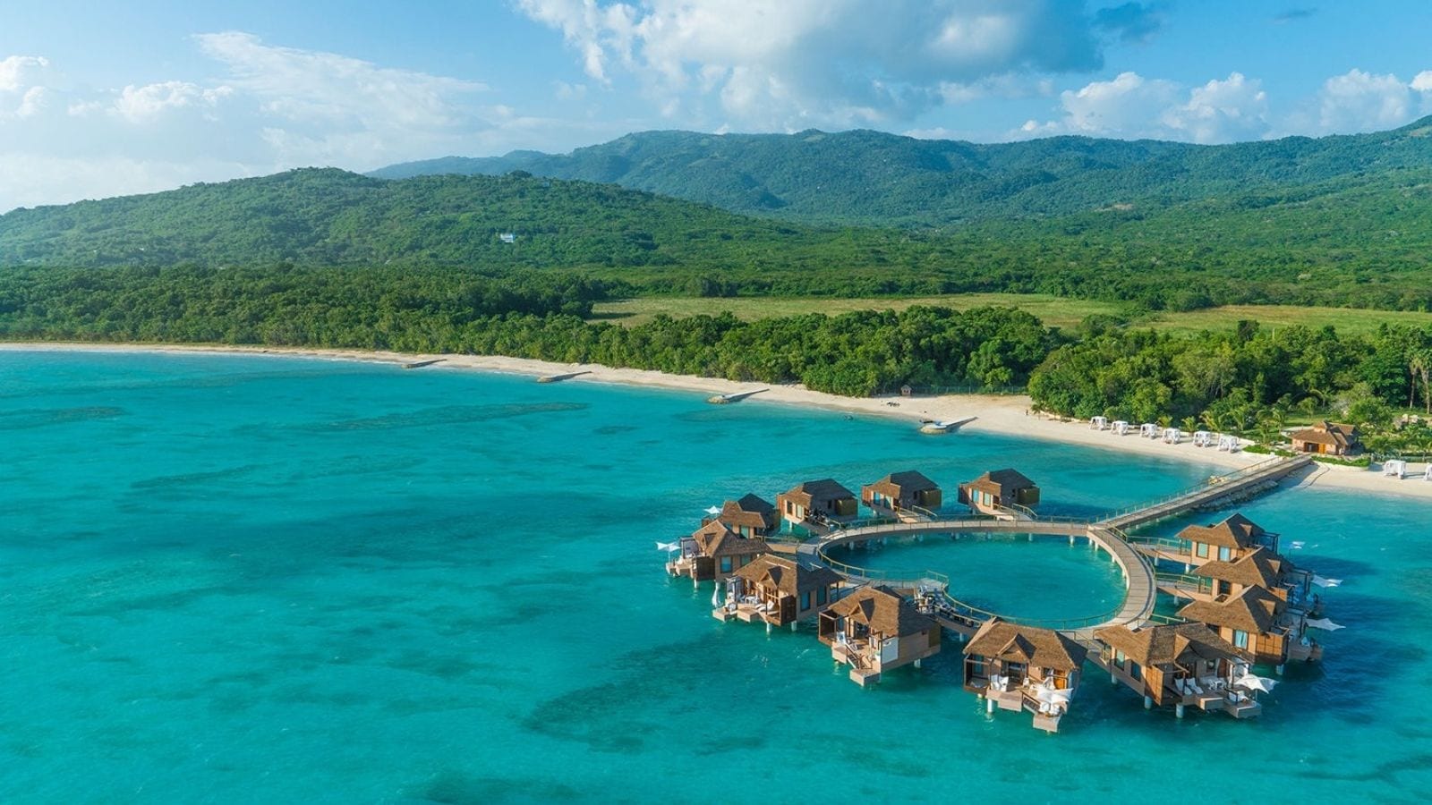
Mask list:
[[375,176],[501,175],[609,182],[806,223],[929,228],[1140,211],[1432,168],[1432,117],[1392,132],[1199,146],[1048,138],[977,145],[882,132],[642,132],[569,155],[513,152],[394,165]]

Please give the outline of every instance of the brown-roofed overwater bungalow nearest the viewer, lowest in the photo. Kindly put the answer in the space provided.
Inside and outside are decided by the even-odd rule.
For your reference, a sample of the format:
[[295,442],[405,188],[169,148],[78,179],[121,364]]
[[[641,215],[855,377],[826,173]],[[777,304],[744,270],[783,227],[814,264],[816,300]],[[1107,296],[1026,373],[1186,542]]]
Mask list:
[[1053,629],[991,617],[965,645],[965,690],[984,696],[991,713],[1025,710],[1035,728],[1057,732],[1087,653]]

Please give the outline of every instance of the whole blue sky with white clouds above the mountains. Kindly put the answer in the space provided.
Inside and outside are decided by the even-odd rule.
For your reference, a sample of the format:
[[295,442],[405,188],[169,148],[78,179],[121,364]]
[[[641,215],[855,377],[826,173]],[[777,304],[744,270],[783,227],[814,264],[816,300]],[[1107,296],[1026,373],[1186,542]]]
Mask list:
[[633,130],[1219,143],[1432,113],[1432,3],[10,3],[0,211]]

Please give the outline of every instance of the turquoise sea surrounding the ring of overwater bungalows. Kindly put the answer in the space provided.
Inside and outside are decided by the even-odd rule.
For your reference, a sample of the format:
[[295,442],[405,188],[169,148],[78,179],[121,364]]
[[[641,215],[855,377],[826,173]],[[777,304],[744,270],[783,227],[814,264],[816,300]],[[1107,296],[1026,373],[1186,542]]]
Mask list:
[[[955,652],[862,690],[809,632],[717,623],[710,589],[666,579],[653,543],[725,497],[828,474],[912,467],[952,488],[1012,466],[1077,514],[1210,468],[702,397],[0,352],[0,801],[1411,802],[1432,786],[1418,504],[1297,490],[1246,508],[1348,580],[1326,596],[1348,625],[1327,662],[1290,669],[1260,719],[1177,722],[1091,675],[1047,736],[987,719]],[[991,572],[1020,547],[1083,572],[1061,543],[988,544]],[[981,567],[952,572],[988,583]],[[1071,606],[1103,594],[1091,567]]]

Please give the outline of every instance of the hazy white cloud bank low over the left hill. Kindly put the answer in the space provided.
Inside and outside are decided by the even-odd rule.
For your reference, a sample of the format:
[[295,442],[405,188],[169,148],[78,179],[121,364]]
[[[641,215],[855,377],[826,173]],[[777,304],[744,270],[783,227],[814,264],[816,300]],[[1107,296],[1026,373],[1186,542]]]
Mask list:
[[195,42],[222,64],[216,80],[90,89],[49,80],[39,56],[0,60],[0,212],[302,165],[369,170],[442,153],[570,148],[573,136],[616,136],[624,123],[524,115],[480,103],[480,82],[246,33]]

